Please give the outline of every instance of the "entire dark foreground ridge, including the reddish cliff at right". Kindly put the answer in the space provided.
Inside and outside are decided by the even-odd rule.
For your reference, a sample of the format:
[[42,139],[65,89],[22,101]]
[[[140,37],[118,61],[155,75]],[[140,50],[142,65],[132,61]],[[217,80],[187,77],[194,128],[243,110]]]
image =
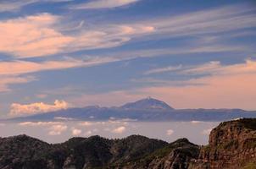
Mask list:
[[131,135],[125,139],[99,136],[47,144],[26,135],[0,138],[3,169],[250,169],[256,168],[256,118],[220,123],[209,145],[187,139],[166,143]]

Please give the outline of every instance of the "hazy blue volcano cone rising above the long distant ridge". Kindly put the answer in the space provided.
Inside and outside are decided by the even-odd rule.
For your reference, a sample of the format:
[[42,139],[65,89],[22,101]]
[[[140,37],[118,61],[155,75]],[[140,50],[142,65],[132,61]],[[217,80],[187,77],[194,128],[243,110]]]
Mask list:
[[174,110],[174,108],[167,105],[164,101],[159,101],[151,97],[147,97],[146,99],[142,99],[140,101],[127,103],[124,106],[121,106],[120,108],[126,110]]

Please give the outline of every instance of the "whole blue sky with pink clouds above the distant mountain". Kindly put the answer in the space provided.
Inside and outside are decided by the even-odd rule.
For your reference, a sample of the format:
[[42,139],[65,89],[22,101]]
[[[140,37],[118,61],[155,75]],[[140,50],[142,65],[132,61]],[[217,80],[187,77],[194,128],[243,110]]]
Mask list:
[[256,3],[0,1],[0,117],[147,96],[256,110]]

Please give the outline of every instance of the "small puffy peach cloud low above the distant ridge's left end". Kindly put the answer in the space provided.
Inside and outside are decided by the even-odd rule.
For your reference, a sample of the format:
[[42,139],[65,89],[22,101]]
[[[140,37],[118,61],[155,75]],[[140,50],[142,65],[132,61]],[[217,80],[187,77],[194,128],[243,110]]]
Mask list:
[[22,105],[19,103],[13,103],[11,105],[10,116],[24,116],[42,112],[52,112],[60,109],[68,108],[68,103],[65,101],[54,101],[53,105],[48,105],[43,102],[31,103],[28,105]]

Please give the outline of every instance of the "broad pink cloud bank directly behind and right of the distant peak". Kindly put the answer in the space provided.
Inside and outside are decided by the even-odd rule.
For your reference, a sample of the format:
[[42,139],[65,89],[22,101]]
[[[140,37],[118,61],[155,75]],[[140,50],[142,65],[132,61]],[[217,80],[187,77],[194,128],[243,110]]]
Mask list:
[[[122,105],[147,95],[166,101],[175,108],[243,108],[255,110],[255,61],[222,65],[205,63],[181,69],[177,74],[207,74],[197,79],[165,80],[158,85],[144,84],[132,90],[109,91],[96,95],[71,98],[74,104]],[[217,65],[217,66],[216,66]],[[180,85],[176,85],[180,83]],[[186,84],[186,85],[184,85]],[[109,98],[109,95],[112,95]],[[236,106],[236,107],[235,107]]]

